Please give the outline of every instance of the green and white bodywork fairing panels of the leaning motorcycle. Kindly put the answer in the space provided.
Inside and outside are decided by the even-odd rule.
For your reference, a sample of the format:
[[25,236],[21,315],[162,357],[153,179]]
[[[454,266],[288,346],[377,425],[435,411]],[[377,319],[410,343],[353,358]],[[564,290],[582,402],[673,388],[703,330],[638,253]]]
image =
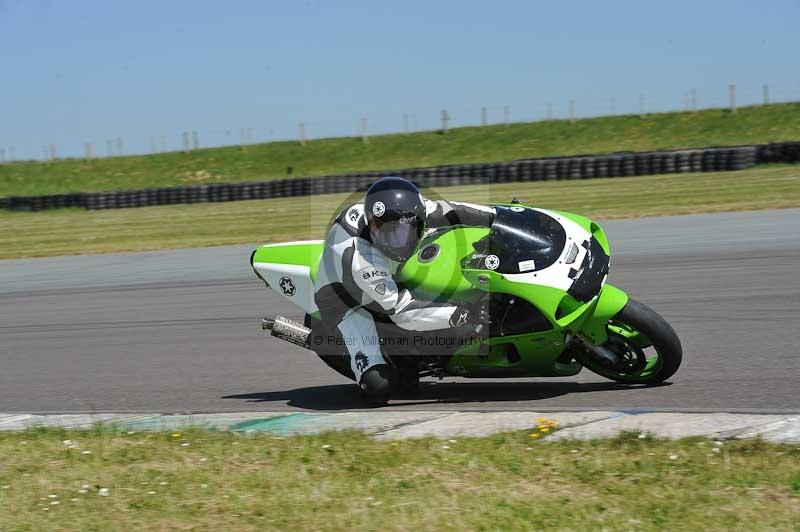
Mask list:
[[[597,224],[578,215],[518,205],[498,207],[509,211],[514,207],[511,212],[515,215],[547,216],[563,228],[563,243],[552,238],[539,248],[540,252],[555,254],[552,264],[535,264],[532,258],[533,269],[520,272],[519,263],[529,260],[520,256],[516,261],[519,273],[496,271],[494,262],[495,270],[489,269],[486,258],[491,253],[478,253],[473,246],[487,237],[489,229],[454,227],[426,235],[418,253],[398,272],[397,280],[420,299],[476,301],[489,292],[492,297],[521,298],[538,310],[538,325],[528,332],[500,330],[482,350],[475,346],[457,350],[448,363],[449,372],[465,377],[574,375],[582,366],[565,351],[569,337],[581,335],[595,344],[605,342],[608,321],[627,302],[624,292],[605,284],[608,262],[602,259],[610,255],[605,234]],[[314,314],[313,280],[323,246],[322,240],[270,244],[258,248],[251,262],[273,290]],[[551,249],[545,249],[548,247]],[[584,272],[590,275],[586,282]],[[284,278],[292,281],[294,290],[288,287],[284,291],[280,284]],[[576,281],[581,285],[575,287]],[[519,334],[513,334],[516,332]]]

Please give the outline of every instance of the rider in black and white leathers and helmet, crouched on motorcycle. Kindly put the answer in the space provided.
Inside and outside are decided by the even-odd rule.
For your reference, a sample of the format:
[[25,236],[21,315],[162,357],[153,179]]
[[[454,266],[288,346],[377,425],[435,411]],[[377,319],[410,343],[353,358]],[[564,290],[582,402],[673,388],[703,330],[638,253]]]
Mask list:
[[314,300],[322,326],[341,334],[356,383],[368,401],[388,400],[397,378],[381,354],[376,317],[409,331],[488,324],[487,304],[415,299],[394,275],[414,254],[426,230],[489,227],[494,217],[494,208],[428,200],[414,183],[383,177],[369,187],[363,203],[335,219],[325,239]]

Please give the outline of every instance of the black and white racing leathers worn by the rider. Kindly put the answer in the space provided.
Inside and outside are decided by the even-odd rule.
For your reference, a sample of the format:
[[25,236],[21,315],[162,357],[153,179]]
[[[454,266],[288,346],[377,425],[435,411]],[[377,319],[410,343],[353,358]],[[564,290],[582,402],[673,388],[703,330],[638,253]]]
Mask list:
[[[425,210],[428,231],[452,225],[490,227],[495,216],[492,207],[445,200],[425,200]],[[325,239],[314,300],[323,327],[338,328],[356,383],[371,367],[386,364],[376,316],[409,331],[447,329],[466,321],[467,313],[456,305],[415,299],[394,279],[400,266],[372,245],[363,203],[340,213]]]

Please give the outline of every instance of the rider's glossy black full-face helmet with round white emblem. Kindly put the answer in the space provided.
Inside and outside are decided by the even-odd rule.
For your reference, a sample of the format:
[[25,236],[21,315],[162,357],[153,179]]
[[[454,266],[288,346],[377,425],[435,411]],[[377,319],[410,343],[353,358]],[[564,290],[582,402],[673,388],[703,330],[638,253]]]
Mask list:
[[382,177],[364,197],[372,243],[398,262],[417,249],[425,232],[425,201],[417,186],[402,177]]

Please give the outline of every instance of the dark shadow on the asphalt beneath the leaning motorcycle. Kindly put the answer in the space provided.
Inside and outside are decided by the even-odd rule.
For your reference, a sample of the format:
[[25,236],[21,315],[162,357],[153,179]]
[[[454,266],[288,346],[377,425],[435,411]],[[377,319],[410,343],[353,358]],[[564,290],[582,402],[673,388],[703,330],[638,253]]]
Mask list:
[[[664,383],[668,385],[668,383]],[[562,395],[587,392],[637,390],[615,382],[423,382],[414,392],[397,392],[384,408],[430,406],[460,403],[496,403],[502,401],[539,401]],[[308,410],[363,410],[364,402],[352,384],[310,386],[275,392],[226,395],[222,399],[238,399],[248,403],[279,403]]]

